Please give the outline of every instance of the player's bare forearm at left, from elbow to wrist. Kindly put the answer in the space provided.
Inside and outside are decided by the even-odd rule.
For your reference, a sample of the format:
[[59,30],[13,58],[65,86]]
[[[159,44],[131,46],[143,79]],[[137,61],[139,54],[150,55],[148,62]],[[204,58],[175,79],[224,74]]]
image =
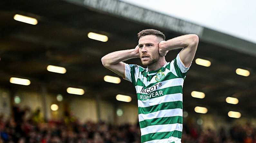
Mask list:
[[121,61],[129,60],[133,58],[139,58],[139,55],[136,49],[111,52],[105,55],[104,57],[102,57],[101,62],[104,67],[108,67],[110,65],[117,64]]

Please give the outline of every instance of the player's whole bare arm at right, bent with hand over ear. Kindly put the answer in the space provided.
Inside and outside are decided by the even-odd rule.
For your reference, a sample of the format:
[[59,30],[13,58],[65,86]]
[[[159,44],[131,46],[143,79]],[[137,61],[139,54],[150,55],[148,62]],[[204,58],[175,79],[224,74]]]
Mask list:
[[199,38],[195,34],[178,36],[159,43],[159,54],[165,56],[167,51],[183,48],[180,52],[180,59],[186,67],[189,67],[194,59]]

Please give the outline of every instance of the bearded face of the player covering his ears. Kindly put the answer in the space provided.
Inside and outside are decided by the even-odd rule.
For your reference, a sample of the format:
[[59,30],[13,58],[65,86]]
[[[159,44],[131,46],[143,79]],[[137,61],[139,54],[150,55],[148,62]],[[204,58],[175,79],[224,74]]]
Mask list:
[[151,66],[159,60],[158,44],[160,41],[162,40],[155,35],[146,35],[139,39],[139,55],[144,66]]

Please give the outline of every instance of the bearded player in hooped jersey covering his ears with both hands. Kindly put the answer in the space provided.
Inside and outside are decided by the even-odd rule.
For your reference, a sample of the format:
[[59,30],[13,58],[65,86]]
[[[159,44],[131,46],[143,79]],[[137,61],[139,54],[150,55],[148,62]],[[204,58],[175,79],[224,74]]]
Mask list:
[[[136,88],[141,142],[181,143],[182,87],[199,38],[188,34],[165,41],[165,35],[154,29],[142,30],[137,36],[135,49],[109,53],[102,57],[102,64]],[[166,62],[167,52],[177,48],[183,49]],[[123,62],[132,58],[140,58],[147,68]]]

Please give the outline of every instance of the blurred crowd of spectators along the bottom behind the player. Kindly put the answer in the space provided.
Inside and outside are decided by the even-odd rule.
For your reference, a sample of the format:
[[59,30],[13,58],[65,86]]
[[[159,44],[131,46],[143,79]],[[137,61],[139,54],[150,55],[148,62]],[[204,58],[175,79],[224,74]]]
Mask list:
[[[13,116],[0,116],[0,143],[140,143],[137,125],[81,123],[69,113],[62,121],[43,122],[40,109],[13,108]],[[256,128],[250,123],[226,130],[201,130],[196,124],[183,126],[183,143],[256,143]]]

